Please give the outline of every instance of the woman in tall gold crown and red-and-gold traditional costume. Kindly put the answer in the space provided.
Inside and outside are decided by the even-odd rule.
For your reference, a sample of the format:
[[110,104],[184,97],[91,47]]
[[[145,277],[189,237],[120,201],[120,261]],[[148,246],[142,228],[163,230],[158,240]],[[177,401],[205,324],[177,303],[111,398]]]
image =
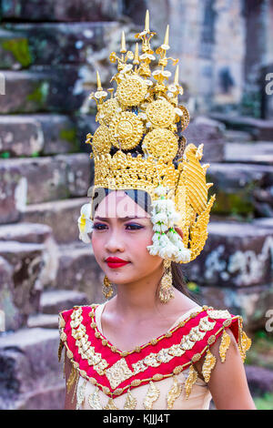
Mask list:
[[[189,123],[178,84],[165,82],[168,26],[156,59],[148,13],[142,55],[121,40],[117,88],[97,73],[97,127],[87,136],[95,161],[91,203],[81,210],[80,239],[92,243],[105,272],[104,304],[60,313],[66,348],[66,409],[255,409],[243,367],[250,340],[240,316],[200,306],[182,287],[180,263],[207,239],[209,164],[203,145],[186,146]],[[126,64],[133,60],[133,64]],[[154,78],[154,82],[151,78]]]

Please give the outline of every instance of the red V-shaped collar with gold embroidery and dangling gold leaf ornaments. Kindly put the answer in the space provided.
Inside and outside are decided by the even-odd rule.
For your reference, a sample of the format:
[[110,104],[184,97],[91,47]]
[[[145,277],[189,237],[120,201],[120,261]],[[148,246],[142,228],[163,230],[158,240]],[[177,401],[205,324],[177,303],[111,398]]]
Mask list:
[[240,351],[242,360],[246,358],[251,341],[243,331],[243,320],[239,315],[228,311],[218,311],[203,306],[200,311],[192,312],[186,320],[167,333],[136,347],[122,352],[97,329],[96,307],[75,306],[59,314],[60,347],[63,346],[72,362],[68,385],[75,382],[76,376],[82,376],[101,389],[110,399],[117,395],[130,393],[141,384],[161,381],[169,376],[189,368],[185,384],[188,398],[193,384],[197,381],[194,363],[206,354],[202,366],[205,382],[216,364],[215,355],[210,352],[211,345],[220,338],[219,355],[225,361],[230,343],[226,329],[230,329]]

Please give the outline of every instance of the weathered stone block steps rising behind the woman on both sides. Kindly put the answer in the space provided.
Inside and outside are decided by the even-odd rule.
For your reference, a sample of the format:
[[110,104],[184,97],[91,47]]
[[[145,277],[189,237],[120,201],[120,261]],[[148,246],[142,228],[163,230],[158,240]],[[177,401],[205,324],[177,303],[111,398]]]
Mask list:
[[[78,240],[76,220],[94,178],[84,142],[96,122],[86,99],[97,65],[102,81],[112,76],[106,58],[119,43],[121,3],[46,0],[35,7],[35,0],[2,0],[2,409],[63,408],[57,313],[104,301],[103,272]],[[217,193],[205,249],[185,273],[200,303],[241,313],[249,331],[263,325],[273,301],[268,129],[193,117],[185,132],[187,143],[204,143],[209,192]]]

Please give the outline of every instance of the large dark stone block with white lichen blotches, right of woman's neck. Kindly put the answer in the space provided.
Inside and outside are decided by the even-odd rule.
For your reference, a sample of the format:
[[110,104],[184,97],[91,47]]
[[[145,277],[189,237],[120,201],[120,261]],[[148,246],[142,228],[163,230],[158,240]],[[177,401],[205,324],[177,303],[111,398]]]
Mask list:
[[242,315],[249,331],[265,328],[273,305],[273,228],[210,221],[202,252],[183,265],[199,304]]

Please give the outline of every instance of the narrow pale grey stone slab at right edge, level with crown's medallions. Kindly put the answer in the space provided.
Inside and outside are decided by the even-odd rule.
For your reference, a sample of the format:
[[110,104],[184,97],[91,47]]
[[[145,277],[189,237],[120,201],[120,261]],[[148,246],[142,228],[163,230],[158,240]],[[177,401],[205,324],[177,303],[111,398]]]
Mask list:
[[273,141],[228,142],[225,144],[225,162],[273,165]]

